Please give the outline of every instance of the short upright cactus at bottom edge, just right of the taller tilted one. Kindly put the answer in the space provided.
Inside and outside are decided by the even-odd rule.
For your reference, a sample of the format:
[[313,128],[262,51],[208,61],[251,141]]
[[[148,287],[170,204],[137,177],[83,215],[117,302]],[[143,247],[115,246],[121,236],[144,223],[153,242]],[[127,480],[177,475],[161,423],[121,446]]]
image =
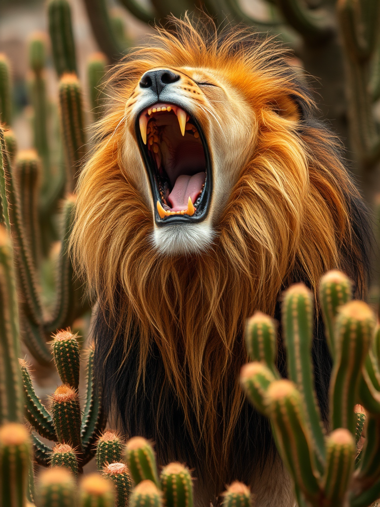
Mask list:
[[193,483],[188,468],[169,463],[160,476],[163,500],[167,507],[193,507]]

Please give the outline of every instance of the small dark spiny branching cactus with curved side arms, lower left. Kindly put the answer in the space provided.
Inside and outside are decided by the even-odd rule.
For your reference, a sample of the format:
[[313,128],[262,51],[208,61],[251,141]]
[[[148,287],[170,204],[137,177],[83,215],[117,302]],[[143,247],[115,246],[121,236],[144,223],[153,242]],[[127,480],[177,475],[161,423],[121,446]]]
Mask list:
[[52,450],[33,436],[34,457],[44,466],[59,464],[78,474],[82,466],[95,454],[94,443],[105,426],[105,417],[100,402],[100,392],[93,378],[94,350],[88,352],[86,403],[81,413],[78,396],[79,345],[77,336],[69,330],[61,331],[52,344],[54,362],[62,382],[52,395],[51,410],[48,411],[36,396],[28,365],[21,360],[21,372],[25,390],[25,416],[42,437],[56,445]]

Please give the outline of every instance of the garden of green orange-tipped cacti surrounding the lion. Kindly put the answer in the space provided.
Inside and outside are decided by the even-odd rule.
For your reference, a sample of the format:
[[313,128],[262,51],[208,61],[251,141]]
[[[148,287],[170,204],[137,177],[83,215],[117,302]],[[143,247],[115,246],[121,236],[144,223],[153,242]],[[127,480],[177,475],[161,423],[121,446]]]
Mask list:
[[[120,2],[147,27],[201,8],[219,23],[245,23],[280,39],[294,52],[289,59],[302,62],[301,79],[321,80],[322,114],[344,137],[377,213],[379,2],[268,0],[265,19],[237,0]],[[18,149],[12,128],[12,62],[0,53],[0,507],[193,507],[194,470],[177,461],[159,466],[155,442],[122,434],[117,420],[107,420],[94,375],[96,301],[75,272],[70,233],[90,128],[106,108],[107,72],[134,42],[106,0],[83,4],[99,46],[85,69],[87,88],[78,77],[69,0],[49,0],[48,33],[29,40],[27,150]],[[281,322],[256,312],[246,323],[240,386],[270,421],[297,507],[380,506],[379,289],[373,283],[368,304],[354,293],[345,273],[330,270],[317,294],[302,283],[283,292]],[[327,410],[315,390],[315,319],[332,358]],[[49,396],[40,394],[42,376],[58,383]],[[217,505],[254,507],[255,491],[225,484]]]

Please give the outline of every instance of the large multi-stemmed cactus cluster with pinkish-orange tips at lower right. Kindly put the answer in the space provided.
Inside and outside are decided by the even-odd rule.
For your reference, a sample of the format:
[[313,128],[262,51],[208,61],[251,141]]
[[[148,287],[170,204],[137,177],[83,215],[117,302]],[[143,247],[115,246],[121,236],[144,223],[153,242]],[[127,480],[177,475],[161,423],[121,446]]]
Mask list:
[[[375,319],[364,302],[349,301],[351,297],[351,283],[343,273],[331,272],[322,278],[321,308],[334,358],[330,434],[324,436],[321,421],[316,418],[313,424],[311,415],[316,417],[318,409],[313,383],[308,380],[312,379],[312,299],[305,286],[294,285],[283,299],[291,380],[278,380],[267,365],[257,361],[245,365],[241,373],[249,399],[271,420],[278,451],[294,480],[299,507],[367,507],[380,496],[380,374],[373,352]],[[264,350],[261,338],[253,335],[253,348]],[[266,339],[265,349],[273,341],[269,335]],[[358,403],[369,412],[365,443],[359,451],[355,444],[364,412]]]

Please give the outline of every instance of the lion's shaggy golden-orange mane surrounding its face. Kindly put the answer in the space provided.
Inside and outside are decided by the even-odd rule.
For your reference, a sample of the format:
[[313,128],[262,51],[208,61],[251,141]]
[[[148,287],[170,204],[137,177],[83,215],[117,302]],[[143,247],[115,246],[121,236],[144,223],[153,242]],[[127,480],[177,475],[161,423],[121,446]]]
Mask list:
[[[231,459],[243,404],[237,378],[246,360],[246,318],[256,310],[274,315],[283,287],[293,281],[316,291],[332,268],[363,288],[363,251],[352,218],[359,195],[331,133],[302,116],[313,101],[277,44],[246,29],[220,34],[210,21],[171,22],[174,31],[158,29],[159,46],[133,51],[112,71],[114,96],[80,177],[72,253],[99,311],[110,312],[114,341],[124,331],[120,367],[138,340],[138,382],[144,383],[151,343],[157,344],[163,383],[177,393],[196,447],[189,416],[195,414],[218,473]],[[256,116],[256,140],[244,147],[249,163],[215,225],[212,248],[199,255],[168,257],[153,248],[152,211],[126,171],[139,151],[137,144],[135,152],[123,151],[125,129],[134,127],[123,123],[125,104],[141,75],[158,66],[223,71]]]

